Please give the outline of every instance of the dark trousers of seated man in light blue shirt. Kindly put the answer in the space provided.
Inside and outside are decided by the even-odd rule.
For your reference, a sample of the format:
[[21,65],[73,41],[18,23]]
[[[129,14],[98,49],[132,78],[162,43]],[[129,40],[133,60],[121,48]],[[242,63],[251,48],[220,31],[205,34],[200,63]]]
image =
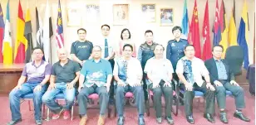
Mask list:
[[106,114],[106,108],[107,108],[108,99],[109,99],[109,94],[106,91],[106,87],[105,86],[98,87],[96,84],[93,84],[89,88],[85,86],[83,89],[81,89],[80,93],[77,96],[78,104],[79,104],[79,114],[81,116],[86,115],[88,96],[94,93],[99,94],[100,96],[101,116]]

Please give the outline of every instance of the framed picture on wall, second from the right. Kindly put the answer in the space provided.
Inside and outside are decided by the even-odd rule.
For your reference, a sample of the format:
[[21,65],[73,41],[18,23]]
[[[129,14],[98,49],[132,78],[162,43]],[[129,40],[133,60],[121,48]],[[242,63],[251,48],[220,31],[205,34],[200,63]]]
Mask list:
[[155,4],[141,4],[141,11],[145,22],[155,22]]

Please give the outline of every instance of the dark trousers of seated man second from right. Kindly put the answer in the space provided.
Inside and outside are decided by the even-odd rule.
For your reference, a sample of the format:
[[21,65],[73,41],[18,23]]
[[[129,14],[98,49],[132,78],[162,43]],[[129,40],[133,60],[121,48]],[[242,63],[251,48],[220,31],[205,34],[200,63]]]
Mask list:
[[[180,84],[182,89],[185,89],[184,84]],[[186,115],[192,115],[193,113],[193,99],[194,99],[194,90],[204,93],[204,99],[206,100],[204,113],[213,114],[214,113],[214,99],[215,92],[210,89],[206,89],[206,83],[202,84],[199,87],[196,83],[193,85],[192,91],[185,90],[184,100],[185,100],[185,113]]]

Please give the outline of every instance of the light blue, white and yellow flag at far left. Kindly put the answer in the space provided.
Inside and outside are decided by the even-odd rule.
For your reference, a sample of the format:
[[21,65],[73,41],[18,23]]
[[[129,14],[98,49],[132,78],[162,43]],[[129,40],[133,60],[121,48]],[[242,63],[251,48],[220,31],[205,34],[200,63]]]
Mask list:
[[6,8],[6,19],[4,27],[4,37],[2,44],[2,56],[4,65],[12,65],[12,36],[11,36],[11,26],[10,26],[10,6],[9,0],[7,2]]

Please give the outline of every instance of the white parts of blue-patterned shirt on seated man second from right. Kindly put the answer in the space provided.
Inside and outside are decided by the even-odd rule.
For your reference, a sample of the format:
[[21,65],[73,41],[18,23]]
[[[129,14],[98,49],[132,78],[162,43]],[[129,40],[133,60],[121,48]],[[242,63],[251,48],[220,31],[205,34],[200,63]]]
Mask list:
[[[186,56],[182,57],[176,67],[176,73],[177,74],[183,74],[184,73],[184,65],[182,60],[188,60]],[[197,57],[194,57],[192,60],[192,73],[194,76],[195,83],[201,87],[202,84],[204,84],[204,80],[202,79],[202,76],[209,75],[209,71],[206,69],[204,65],[204,61],[200,60]]]

